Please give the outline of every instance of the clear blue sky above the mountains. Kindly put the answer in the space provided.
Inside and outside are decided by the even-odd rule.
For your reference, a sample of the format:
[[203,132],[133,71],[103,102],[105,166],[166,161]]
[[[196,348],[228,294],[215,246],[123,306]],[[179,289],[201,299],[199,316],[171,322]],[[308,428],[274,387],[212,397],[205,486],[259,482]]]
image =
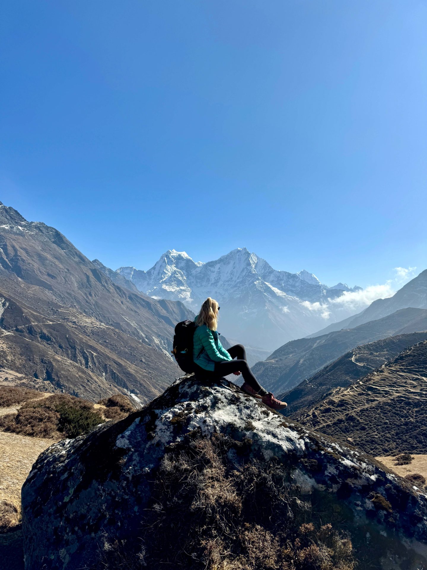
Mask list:
[[0,200],[113,269],[427,267],[427,3],[13,0]]

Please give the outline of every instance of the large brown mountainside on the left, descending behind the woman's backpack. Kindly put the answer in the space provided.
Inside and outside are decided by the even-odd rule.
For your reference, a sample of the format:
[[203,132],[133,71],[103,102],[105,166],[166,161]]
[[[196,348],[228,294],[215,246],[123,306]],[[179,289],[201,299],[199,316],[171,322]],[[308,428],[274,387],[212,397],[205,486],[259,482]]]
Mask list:
[[0,296],[0,372],[92,400],[157,396],[176,376],[174,326],[194,316],[113,283],[59,231],[1,203]]

